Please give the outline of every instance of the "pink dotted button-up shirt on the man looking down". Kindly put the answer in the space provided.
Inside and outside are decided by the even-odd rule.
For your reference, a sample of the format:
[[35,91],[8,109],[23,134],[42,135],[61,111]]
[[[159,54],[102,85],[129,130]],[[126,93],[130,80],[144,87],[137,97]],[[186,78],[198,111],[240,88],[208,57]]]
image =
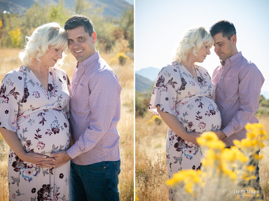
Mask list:
[[221,130],[227,136],[223,142],[232,146],[233,140],[246,138],[245,125],[257,123],[254,113],[264,78],[257,66],[247,61],[241,52],[221,61],[212,75],[216,86],[215,103],[221,113]]

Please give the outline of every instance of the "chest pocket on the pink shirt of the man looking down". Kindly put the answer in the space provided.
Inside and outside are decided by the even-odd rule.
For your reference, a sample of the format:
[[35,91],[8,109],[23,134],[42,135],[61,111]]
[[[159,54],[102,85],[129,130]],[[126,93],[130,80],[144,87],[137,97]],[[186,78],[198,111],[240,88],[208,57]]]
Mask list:
[[239,79],[238,76],[227,76],[223,80],[224,93],[226,96],[236,96],[238,94]]

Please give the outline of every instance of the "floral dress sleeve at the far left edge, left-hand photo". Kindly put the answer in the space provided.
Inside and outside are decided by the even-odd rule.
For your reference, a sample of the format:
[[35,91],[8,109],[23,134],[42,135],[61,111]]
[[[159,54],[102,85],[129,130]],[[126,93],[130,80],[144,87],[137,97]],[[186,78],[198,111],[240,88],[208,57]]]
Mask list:
[[17,116],[19,110],[19,96],[17,84],[22,79],[8,73],[4,77],[0,89],[0,126],[10,131],[17,130]]

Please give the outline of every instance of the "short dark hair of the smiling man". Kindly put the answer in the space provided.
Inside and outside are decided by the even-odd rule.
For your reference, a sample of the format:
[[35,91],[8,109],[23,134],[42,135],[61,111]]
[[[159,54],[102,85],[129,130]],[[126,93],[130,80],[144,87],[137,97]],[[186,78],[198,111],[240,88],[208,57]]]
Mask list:
[[85,32],[88,32],[91,37],[91,34],[94,32],[93,23],[90,18],[85,15],[73,15],[66,21],[64,29],[67,31],[80,26],[83,26]]

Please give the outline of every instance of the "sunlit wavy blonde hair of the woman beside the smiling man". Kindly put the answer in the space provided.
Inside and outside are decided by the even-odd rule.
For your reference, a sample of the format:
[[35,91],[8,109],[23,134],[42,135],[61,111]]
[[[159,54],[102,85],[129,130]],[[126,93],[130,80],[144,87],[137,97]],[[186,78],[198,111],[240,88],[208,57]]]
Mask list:
[[34,65],[35,59],[39,62],[49,50],[49,46],[64,50],[62,58],[58,59],[54,67],[61,67],[66,57],[65,51],[68,47],[66,31],[56,22],[43,24],[37,27],[31,36],[25,37],[26,44],[19,53],[20,61],[24,66]]

